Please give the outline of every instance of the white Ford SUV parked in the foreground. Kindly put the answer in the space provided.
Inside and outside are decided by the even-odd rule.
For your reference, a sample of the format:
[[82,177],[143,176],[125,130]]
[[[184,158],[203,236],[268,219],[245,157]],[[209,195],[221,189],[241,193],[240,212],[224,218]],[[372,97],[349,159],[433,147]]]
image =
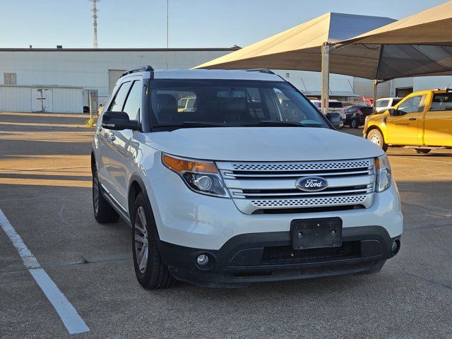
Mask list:
[[375,273],[400,249],[383,150],[270,71],[133,69],[97,126],[95,219],[131,226],[144,287]]

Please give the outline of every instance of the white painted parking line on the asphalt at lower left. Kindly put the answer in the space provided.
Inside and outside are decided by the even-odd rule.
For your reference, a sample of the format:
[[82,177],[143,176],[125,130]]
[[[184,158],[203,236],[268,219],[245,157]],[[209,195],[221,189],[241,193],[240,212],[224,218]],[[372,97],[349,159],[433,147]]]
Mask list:
[[61,321],[63,321],[64,326],[66,326],[69,333],[74,334],[90,331],[88,326],[86,326],[85,321],[83,321],[83,319],[81,319],[78,315],[76,309],[74,309],[68,299],[64,297],[64,294],[61,293],[57,285],[55,285],[45,270],[41,268],[35,256],[33,256],[30,252],[27,245],[24,244],[20,238],[20,235],[16,232],[16,230],[14,230],[13,226],[1,209],[0,225],[13,243],[13,246],[16,247],[20,258],[22,258],[23,264],[26,268],[28,268],[28,271],[35,279],[37,285],[41,287],[42,292],[44,292],[44,295],[47,299],[49,299],[49,302],[57,311]]

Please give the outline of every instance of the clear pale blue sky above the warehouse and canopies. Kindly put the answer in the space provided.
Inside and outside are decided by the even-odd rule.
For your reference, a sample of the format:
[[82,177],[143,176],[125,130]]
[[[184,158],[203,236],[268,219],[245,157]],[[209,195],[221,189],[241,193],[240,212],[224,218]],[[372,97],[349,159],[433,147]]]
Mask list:
[[[231,47],[327,12],[405,18],[444,0],[169,0],[169,47]],[[0,47],[93,47],[90,0],[0,0]],[[102,0],[99,47],[167,46],[167,0]]]

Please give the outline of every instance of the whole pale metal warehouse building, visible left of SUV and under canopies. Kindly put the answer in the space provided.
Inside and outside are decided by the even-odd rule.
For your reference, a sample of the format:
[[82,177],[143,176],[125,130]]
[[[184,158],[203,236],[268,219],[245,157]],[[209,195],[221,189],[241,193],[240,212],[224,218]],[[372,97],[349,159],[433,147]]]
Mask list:
[[[190,69],[239,47],[194,49],[0,49],[0,112],[81,113],[88,91],[107,100],[121,73],[150,64],[155,69]],[[320,95],[320,73],[277,70],[308,96]],[[379,97],[444,88],[451,76],[402,78],[379,85]],[[372,82],[331,75],[330,94],[342,100],[371,97]]]

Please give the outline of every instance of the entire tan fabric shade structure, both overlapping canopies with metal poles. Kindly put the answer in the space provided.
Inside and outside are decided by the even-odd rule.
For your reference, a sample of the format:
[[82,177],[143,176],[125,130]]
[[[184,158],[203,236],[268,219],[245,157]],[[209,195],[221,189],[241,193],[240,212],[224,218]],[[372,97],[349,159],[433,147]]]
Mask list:
[[452,1],[398,21],[328,13],[197,68],[321,71],[328,112],[330,72],[374,79],[374,99],[381,81],[451,75],[451,32]]

